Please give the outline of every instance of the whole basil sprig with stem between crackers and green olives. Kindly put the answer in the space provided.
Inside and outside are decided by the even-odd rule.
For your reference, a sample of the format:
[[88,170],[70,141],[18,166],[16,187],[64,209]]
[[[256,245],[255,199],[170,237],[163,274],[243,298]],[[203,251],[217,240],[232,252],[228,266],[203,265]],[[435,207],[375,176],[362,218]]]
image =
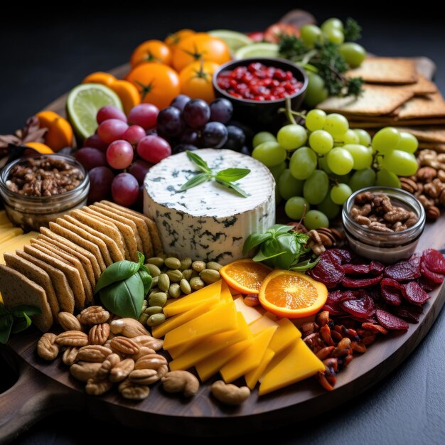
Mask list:
[[136,319],[141,315],[152,278],[141,252],[138,259],[139,262],[124,259],[110,264],[97,280],[95,294],[99,294],[102,304],[116,315]]

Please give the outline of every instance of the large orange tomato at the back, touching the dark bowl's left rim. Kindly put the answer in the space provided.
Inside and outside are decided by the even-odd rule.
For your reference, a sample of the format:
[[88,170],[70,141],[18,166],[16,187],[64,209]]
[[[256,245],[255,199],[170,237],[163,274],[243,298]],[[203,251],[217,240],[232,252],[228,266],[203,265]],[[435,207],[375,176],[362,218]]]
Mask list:
[[195,33],[176,46],[173,51],[173,68],[181,71],[197,60],[222,65],[230,60],[230,49],[220,38],[206,33]]

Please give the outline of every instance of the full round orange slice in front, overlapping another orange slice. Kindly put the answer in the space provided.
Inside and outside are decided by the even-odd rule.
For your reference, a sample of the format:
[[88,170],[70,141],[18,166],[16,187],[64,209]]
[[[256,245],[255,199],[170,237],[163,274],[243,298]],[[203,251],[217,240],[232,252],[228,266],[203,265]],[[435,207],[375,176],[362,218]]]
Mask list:
[[286,318],[303,318],[317,313],[328,299],[328,289],[311,277],[290,270],[275,270],[259,289],[264,309]]

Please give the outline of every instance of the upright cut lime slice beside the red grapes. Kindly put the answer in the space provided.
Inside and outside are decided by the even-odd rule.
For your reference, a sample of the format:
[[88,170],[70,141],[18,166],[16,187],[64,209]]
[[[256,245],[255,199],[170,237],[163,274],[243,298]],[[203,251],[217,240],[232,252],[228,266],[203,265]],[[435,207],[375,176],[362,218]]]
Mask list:
[[68,119],[79,136],[85,139],[95,133],[96,114],[105,105],[114,105],[123,111],[119,96],[104,85],[82,83],[70,91],[66,102]]

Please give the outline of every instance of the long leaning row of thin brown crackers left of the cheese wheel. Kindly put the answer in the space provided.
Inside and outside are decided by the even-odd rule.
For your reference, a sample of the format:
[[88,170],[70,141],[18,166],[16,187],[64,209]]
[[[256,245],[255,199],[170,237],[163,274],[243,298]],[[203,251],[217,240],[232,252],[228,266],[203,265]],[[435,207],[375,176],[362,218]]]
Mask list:
[[4,304],[38,306],[33,323],[43,332],[60,311],[74,313],[94,304],[97,280],[110,264],[138,262],[162,252],[156,224],[141,213],[103,200],[72,210],[23,250],[4,253],[0,292]]

